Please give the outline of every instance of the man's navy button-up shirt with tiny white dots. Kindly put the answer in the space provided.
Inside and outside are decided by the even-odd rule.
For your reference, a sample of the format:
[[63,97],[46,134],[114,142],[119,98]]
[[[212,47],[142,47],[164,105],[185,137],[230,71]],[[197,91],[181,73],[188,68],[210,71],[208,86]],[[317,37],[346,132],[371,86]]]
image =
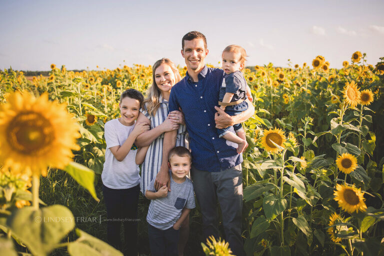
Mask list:
[[[198,82],[186,73],[170,90],[169,112],[179,107],[184,112],[192,164],[199,170],[220,171],[242,162],[242,154],[236,152],[237,144],[219,138],[215,128],[214,106],[218,105],[224,74],[222,69],[204,66]],[[233,127],[229,130],[233,132]]]

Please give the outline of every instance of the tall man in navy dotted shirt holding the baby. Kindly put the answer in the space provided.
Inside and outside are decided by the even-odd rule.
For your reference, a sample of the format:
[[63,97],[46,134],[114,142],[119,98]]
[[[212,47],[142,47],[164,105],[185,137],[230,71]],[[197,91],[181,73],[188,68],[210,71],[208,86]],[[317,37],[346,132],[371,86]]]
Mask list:
[[[191,177],[201,209],[204,236],[219,236],[216,208],[218,199],[225,239],[235,255],[243,255],[242,155],[236,152],[236,143],[218,137],[216,128],[245,121],[253,115],[254,108],[248,101],[249,107],[246,111],[229,116],[217,107],[218,91],[224,72],[205,65],[208,54],[205,36],[197,31],[188,32],[182,37],[181,45],[187,73],[171,89],[169,112],[178,110],[179,107],[184,112],[192,154]],[[233,128],[231,131],[233,132]],[[156,188],[169,181],[167,159],[169,150],[175,145],[175,139],[176,130],[164,134],[162,164],[156,176]]]

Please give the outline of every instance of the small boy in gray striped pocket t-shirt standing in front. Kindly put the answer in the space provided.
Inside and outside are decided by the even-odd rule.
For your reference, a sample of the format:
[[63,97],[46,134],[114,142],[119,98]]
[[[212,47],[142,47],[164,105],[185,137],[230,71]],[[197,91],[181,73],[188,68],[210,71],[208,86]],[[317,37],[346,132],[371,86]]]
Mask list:
[[146,220],[150,251],[154,256],[177,255],[178,229],[195,207],[193,185],[186,177],[191,160],[185,147],[172,148],[168,154],[171,191],[166,185],[156,191],[154,179],[145,191],[145,196],[151,199]]

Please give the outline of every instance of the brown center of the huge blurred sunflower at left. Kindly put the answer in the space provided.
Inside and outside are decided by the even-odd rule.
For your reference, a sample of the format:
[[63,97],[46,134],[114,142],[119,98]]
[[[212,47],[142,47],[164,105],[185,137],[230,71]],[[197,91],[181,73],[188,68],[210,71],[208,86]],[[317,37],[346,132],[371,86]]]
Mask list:
[[7,142],[16,151],[41,155],[49,150],[54,139],[53,127],[39,113],[25,112],[15,116],[6,129]]

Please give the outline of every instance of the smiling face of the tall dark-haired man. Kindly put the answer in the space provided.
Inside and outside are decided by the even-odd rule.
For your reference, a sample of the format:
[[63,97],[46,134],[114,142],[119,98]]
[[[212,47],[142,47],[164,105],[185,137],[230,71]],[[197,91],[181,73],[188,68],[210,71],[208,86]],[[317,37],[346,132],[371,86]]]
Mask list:
[[205,49],[202,38],[184,40],[184,48],[181,50],[181,55],[185,59],[188,69],[193,71],[202,69],[205,65],[204,59],[207,54],[208,50]]

